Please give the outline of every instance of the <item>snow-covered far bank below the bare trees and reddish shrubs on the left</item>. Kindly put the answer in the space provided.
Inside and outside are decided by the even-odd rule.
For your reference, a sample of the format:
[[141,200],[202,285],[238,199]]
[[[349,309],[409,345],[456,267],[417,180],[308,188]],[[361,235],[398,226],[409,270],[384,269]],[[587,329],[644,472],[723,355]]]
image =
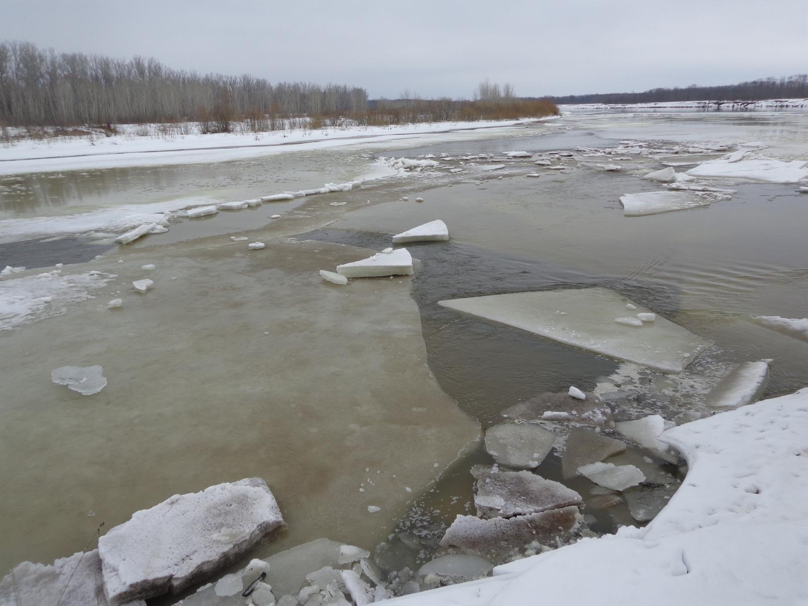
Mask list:
[[[550,116],[552,118],[554,116]],[[545,118],[544,120],[549,120]],[[27,139],[0,147],[0,175],[54,170],[87,170],[121,166],[157,166],[223,162],[284,154],[301,149],[326,149],[416,135],[435,136],[457,130],[497,128],[525,120],[436,122],[389,127],[327,128],[318,131],[190,134],[178,137],[137,137],[142,125],[120,125],[112,137]]]

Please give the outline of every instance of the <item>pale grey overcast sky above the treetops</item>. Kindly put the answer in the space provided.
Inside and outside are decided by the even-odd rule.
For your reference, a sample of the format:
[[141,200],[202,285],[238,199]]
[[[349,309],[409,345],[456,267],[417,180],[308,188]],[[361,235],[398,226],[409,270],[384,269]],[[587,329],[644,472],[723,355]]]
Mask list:
[[808,70],[808,0],[2,0],[0,40],[271,82],[470,97],[730,84]]

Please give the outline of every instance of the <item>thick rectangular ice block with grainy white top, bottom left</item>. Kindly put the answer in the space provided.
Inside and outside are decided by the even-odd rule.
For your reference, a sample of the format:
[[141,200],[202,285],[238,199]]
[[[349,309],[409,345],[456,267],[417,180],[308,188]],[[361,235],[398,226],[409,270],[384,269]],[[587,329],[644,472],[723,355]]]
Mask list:
[[178,593],[229,566],[284,525],[260,478],[175,494],[99,538],[104,593],[112,606]]

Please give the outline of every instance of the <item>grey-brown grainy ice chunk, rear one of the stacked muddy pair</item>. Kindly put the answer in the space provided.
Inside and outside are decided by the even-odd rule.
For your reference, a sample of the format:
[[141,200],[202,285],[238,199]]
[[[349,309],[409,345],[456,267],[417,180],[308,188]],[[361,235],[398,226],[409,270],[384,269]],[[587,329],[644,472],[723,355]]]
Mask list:
[[581,495],[529,471],[494,471],[475,465],[474,505],[481,518],[511,517],[581,503]]

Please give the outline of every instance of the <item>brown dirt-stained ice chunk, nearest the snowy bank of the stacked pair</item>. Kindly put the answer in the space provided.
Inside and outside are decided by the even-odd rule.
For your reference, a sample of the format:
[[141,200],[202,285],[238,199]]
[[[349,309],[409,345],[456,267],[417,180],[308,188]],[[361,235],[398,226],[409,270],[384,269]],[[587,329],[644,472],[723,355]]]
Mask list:
[[556,545],[556,540],[568,537],[580,520],[580,511],[574,505],[512,518],[457,516],[440,546],[457,547],[491,562],[505,562],[533,541]]

